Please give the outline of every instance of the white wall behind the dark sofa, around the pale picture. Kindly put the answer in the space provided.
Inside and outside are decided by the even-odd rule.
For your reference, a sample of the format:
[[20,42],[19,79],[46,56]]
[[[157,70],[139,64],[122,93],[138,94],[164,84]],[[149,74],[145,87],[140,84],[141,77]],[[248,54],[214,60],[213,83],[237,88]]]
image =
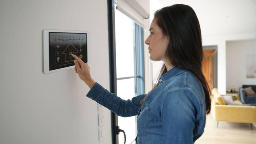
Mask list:
[[255,39],[228,41],[226,46],[227,88],[238,91],[242,85],[255,85],[255,78],[246,78],[246,57],[255,55]]

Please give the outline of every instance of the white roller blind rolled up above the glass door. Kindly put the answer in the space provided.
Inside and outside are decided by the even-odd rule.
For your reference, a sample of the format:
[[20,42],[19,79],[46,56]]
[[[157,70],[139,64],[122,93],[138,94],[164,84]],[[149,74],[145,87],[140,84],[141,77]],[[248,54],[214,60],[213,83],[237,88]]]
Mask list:
[[144,19],[150,17],[149,0],[117,0],[116,9],[142,27],[145,25]]

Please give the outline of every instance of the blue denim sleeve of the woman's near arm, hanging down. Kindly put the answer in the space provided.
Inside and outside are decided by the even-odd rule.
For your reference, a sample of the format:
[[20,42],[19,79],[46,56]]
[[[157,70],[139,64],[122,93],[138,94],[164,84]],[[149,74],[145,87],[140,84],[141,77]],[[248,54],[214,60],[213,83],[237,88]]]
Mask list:
[[193,144],[197,99],[186,89],[168,92],[162,102],[163,144]]

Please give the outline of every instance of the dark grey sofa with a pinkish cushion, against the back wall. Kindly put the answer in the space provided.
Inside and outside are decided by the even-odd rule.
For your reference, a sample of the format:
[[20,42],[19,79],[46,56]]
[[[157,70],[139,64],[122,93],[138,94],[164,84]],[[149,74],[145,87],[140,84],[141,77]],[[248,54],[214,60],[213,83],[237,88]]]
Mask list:
[[243,88],[252,87],[253,91],[255,92],[255,85],[242,85],[242,87],[239,88],[239,98],[242,103],[245,104],[255,104],[255,95],[253,96],[246,96],[244,93]]

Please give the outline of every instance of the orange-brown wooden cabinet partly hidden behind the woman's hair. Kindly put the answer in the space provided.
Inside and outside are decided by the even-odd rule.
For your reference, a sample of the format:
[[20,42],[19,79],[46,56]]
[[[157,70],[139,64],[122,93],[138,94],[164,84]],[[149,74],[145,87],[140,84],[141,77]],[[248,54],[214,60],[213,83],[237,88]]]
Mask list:
[[210,89],[213,86],[213,53],[215,49],[203,50],[204,60],[202,62],[202,72],[208,82]]

